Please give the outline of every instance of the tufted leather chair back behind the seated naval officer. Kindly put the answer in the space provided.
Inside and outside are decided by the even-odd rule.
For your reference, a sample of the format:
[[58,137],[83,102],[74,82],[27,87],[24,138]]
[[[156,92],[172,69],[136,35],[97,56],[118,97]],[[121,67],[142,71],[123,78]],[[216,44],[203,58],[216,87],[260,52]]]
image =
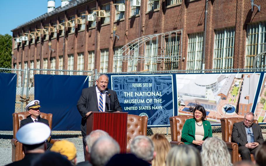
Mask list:
[[[20,121],[30,116],[30,113],[28,111],[21,113],[13,113],[12,116],[13,116],[13,138],[16,138],[16,134],[20,126]],[[52,129],[53,114],[41,113],[40,117],[47,119],[49,121],[50,129]]]

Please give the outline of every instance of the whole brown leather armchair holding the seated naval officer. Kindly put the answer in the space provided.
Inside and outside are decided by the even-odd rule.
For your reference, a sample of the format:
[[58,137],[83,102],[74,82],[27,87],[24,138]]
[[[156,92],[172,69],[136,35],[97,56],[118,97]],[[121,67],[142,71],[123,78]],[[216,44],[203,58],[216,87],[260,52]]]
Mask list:
[[[22,113],[13,113],[12,116],[13,116],[13,139],[11,139],[11,144],[12,144],[12,162],[14,162],[23,159],[25,156],[22,150],[22,143],[18,142],[18,140],[16,139],[16,134],[20,126],[20,121],[30,116],[30,113],[28,111]],[[40,116],[41,118],[47,119],[49,121],[49,127],[50,129],[52,129],[53,114],[41,113]],[[56,141],[58,140],[51,139],[50,143],[54,143]]]

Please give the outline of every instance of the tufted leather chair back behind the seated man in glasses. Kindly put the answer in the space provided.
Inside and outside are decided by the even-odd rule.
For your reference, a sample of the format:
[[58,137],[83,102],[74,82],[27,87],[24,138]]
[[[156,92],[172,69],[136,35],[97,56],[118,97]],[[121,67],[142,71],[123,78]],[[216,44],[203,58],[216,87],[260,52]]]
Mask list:
[[[234,123],[243,122],[244,118],[239,117],[229,117],[229,118],[221,118],[221,127],[222,127],[222,140],[225,142],[231,142],[232,138],[232,129]],[[253,123],[258,124],[258,120],[254,120]]]

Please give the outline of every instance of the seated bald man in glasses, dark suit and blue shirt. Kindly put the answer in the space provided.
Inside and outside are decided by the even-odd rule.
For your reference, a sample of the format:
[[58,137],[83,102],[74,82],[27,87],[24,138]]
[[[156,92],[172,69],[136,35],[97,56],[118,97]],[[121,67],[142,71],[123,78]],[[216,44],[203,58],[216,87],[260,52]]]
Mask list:
[[254,114],[246,113],[243,122],[234,123],[232,142],[238,144],[242,160],[250,160],[250,154],[255,154],[257,147],[264,142],[260,125],[253,123]]

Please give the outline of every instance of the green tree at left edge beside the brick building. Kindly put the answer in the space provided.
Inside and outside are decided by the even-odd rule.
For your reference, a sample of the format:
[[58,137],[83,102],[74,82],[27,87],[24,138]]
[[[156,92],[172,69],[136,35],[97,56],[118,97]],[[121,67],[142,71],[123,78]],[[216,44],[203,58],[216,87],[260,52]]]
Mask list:
[[0,68],[11,68],[12,36],[0,34]]

